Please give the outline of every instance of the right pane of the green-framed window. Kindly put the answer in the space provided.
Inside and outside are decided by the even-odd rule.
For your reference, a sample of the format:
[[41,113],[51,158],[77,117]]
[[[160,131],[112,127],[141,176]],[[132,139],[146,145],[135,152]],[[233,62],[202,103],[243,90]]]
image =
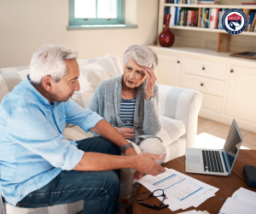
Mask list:
[[117,0],[98,0],[98,18],[117,18]]

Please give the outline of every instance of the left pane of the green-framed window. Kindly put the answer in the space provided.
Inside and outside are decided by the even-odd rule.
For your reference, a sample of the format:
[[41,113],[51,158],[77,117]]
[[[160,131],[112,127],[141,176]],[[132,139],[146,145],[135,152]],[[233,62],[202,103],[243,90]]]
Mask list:
[[75,18],[96,18],[96,0],[75,0]]

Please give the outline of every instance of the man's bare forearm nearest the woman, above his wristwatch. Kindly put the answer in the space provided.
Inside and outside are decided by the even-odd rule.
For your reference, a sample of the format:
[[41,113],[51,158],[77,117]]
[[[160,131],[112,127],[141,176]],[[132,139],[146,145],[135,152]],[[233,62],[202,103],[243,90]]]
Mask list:
[[112,124],[109,124],[106,120],[102,119],[96,124],[95,127],[91,128],[96,134],[103,136],[108,141],[113,142],[118,147],[124,147],[127,144],[125,138],[116,130]]

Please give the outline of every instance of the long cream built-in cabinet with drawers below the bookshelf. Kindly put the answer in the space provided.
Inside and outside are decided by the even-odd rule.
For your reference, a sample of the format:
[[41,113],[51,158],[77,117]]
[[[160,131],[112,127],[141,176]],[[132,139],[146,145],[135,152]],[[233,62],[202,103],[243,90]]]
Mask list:
[[159,57],[158,84],[197,90],[201,117],[229,125],[236,119],[241,129],[256,132],[256,61],[209,49],[150,48]]

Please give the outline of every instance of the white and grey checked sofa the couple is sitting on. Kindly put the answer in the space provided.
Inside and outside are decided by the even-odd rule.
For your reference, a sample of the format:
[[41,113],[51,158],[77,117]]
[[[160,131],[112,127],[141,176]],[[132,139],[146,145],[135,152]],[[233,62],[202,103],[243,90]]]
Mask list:
[[[110,54],[95,59],[79,60],[81,90],[72,99],[81,107],[87,107],[96,86],[106,78],[122,73],[119,58]],[[13,90],[16,84],[26,77],[29,67],[9,67],[0,69],[0,101]],[[162,129],[160,138],[166,147],[166,161],[184,155],[185,147],[195,147],[197,118],[201,108],[202,96],[195,90],[160,85],[160,117]],[[67,124],[64,136],[68,140],[80,140],[92,136],[77,125]],[[0,145],[1,147],[1,145]],[[0,157],[1,165],[1,157]],[[0,175],[1,184],[1,175]],[[1,189],[0,189],[1,190]],[[0,193],[1,197],[1,193]],[[3,208],[4,207],[4,208]],[[83,210],[83,201],[69,205],[54,205],[38,209],[19,208],[0,201],[0,214],[74,214]]]

